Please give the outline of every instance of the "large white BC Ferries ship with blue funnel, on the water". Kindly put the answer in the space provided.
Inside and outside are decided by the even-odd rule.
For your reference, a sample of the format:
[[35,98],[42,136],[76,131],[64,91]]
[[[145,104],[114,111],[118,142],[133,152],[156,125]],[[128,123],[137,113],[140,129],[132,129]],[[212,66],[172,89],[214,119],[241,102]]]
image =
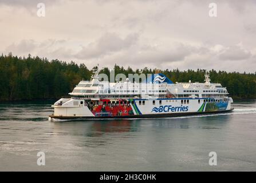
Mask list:
[[90,81],[80,81],[70,97],[52,105],[49,120],[168,118],[233,110],[226,87],[211,83],[206,72],[203,83],[173,83],[157,72],[145,81],[100,81],[99,67]]

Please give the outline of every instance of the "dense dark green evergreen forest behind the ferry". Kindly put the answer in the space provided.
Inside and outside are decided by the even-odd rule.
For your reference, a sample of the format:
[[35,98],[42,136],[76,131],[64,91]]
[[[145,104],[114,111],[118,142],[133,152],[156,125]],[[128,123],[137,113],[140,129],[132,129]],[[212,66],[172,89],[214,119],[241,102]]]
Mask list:
[[[111,68],[112,69],[112,68]],[[114,66],[115,74],[155,73],[155,69],[133,70]],[[162,70],[173,82],[203,82],[203,69],[180,71],[179,69]],[[104,67],[100,73],[109,75],[109,68]],[[227,73],[210,70],[211,82],[222,83],[234,98],[256,98],[255,73]],[[62,62],[58,59],[48,61],[47,58],[27,58],[9,55],[0,57],[0,101],[56,99],[66,96],[81,79],[88,80],[92,70],[84,63]]]

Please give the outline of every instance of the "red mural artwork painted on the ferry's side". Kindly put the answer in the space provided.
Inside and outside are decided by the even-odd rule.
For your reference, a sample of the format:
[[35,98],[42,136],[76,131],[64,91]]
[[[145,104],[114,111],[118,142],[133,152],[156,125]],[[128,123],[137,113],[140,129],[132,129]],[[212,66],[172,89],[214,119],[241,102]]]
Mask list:
[[90,111],[95,116],[127,116],[133,115],[132,107],[126,100],[100,100],[90,102]]

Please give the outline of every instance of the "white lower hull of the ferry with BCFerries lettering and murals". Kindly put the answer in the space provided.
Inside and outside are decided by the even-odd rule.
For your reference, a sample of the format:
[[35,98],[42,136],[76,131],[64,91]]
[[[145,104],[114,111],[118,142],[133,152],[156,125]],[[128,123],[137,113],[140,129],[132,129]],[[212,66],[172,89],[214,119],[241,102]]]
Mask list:
[[[106,118],[163,118],[229,112],[232,98],[158,98],[151,100],[100,100],[84,105],[84,100],[61,99],[50,118],[61,120]],[[60,102],[59,100],[58,102]],[[115,104],[113,105],[113,101]],[[56,104],[58,104],[56,102]]]

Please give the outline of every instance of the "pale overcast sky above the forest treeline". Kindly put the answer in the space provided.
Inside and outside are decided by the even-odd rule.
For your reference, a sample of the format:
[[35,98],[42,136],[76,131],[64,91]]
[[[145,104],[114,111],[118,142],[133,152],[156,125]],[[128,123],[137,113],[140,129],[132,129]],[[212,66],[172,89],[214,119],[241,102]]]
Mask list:
[[[208,15],[211,2],[217,17]],[[0,40],[3,54],[89,68],[255,72],[256,1],[0,0]]]

